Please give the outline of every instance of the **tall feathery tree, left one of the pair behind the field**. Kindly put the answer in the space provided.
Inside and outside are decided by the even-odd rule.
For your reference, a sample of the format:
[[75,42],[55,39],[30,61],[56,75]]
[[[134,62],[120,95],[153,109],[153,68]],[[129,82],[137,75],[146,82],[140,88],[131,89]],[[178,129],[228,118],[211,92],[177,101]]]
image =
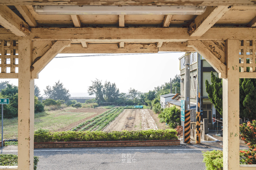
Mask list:
[[92,81],[92,85],[88,88],[89,95],[96,95],[96,100],[99,100],[101,102],[105,101],[103,97],[103,85],[101,83],[101,80],[98,80],[96,78],[95,81]]

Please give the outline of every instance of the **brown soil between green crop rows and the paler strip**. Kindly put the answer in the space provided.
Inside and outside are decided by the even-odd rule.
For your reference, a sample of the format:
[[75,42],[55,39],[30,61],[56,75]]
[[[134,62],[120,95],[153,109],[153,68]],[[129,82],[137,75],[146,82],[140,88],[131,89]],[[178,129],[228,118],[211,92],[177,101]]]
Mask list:
[[105,131],[141,130],[141,115],[139,110],[125,109]]

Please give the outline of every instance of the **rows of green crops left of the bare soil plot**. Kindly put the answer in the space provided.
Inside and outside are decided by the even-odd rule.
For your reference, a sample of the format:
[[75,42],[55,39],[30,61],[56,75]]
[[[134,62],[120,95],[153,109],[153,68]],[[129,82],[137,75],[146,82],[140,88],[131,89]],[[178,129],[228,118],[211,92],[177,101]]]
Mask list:
[[87,120],[85,122],[80,123],[76,127],[72,128],[72,131],[84,131],[84,130],[102,130],[109,124],[109,122],[112,122],[115,120],[115,118],[123,112],[123,108],[112,108],[98,116],[93,117],[90,120]]

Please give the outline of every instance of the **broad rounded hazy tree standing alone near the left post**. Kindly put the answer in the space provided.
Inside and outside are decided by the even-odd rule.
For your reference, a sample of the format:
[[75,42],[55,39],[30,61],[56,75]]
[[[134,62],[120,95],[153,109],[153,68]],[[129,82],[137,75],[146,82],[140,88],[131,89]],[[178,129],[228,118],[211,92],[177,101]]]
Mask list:
[[55,85],[46,86],[46,90],[44,90],[44,94],[53,100],[65,100],[67,101],[70,97],[69,90],[63,87],[63,84],[55,82]]

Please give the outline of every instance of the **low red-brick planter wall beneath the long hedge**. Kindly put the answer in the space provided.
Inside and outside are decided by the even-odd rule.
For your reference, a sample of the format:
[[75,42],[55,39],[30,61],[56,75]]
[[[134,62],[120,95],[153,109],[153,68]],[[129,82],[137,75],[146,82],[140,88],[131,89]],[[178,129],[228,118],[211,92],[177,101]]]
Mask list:
[[180,140],[35,142],[34,148],[86,148],[86,147],[172,146],[172,145],[180,145]]

